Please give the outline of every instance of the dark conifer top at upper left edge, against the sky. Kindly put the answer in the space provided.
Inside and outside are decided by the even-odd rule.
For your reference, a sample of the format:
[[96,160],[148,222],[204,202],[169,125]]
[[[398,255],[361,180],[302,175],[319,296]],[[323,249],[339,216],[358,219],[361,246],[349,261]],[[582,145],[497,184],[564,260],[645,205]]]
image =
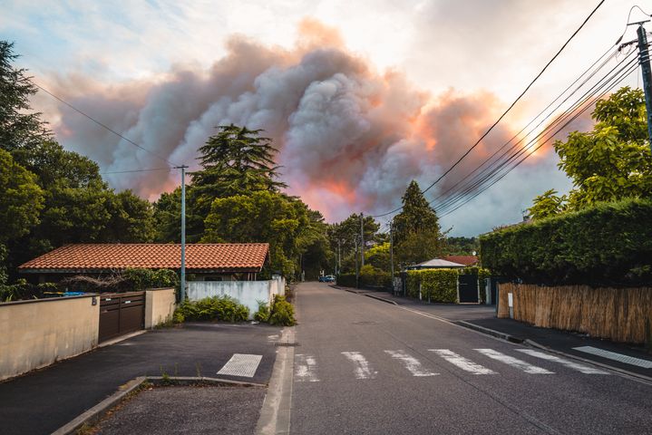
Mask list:
[[0,41],[0,149],[7,151],[50,137],[41,114],[27,112],[36,87],[24,69],[12,65],[18,57],[13,49],[14,43]]

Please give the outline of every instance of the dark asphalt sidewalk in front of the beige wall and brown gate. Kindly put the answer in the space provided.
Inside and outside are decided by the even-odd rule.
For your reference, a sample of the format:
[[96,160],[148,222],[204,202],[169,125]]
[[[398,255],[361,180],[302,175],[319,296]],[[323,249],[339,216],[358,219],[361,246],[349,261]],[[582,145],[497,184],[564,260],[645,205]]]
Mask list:
[[[138,376],[165,373],[267,383],[278,336],[280,328],[267,324],[185,324],[84,353],[0,383],[0,431],[52,433]],[[233,353],[262,355],[253,377],[217,374]]]

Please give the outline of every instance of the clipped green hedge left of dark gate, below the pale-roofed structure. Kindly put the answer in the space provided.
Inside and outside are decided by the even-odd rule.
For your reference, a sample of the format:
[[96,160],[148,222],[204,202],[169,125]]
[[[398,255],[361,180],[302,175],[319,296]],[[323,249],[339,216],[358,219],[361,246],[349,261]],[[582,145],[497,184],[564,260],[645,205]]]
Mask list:
[[457,269],[423,269],[408,270],[406,278],[406,293],[429,302],[457,302]]

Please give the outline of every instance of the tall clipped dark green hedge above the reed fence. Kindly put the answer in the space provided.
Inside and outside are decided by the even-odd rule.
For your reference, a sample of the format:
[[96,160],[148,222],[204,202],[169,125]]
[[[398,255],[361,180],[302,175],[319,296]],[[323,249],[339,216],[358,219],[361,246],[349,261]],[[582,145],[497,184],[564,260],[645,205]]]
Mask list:
[[652,200],[628,199],[482,236],[493,275],[548,285],[644,285],[652,278]]

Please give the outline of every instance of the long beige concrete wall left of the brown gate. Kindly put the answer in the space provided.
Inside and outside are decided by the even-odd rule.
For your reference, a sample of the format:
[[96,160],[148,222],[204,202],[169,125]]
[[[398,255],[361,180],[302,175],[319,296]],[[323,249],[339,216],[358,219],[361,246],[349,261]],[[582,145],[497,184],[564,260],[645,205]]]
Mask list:
[[90,351],[99,326],[94,295],[0,304],[0,380]]

